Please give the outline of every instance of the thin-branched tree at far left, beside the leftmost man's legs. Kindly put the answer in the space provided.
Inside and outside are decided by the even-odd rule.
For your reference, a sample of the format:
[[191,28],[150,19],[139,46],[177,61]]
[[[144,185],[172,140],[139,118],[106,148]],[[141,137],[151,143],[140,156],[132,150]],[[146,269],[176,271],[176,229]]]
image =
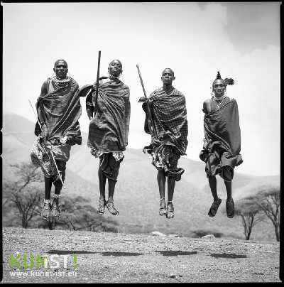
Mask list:
[[16,180],[7,180],[4,183],[4,206],[16,207],[21,217],[23,228],[36,215],[36,209],[41,200],[40,190],[36,183],[43,181],[40,169],[33,163],[20,163],[11,165]]

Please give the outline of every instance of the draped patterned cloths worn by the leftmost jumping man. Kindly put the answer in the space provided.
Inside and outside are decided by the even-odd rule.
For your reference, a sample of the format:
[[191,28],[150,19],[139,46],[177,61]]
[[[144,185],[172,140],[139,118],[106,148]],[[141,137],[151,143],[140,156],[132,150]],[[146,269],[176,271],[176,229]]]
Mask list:
[[[56,82],[48,78],[48,93],[38,97],[36,109],[45,117],[48,128],[46,139],[38,138],[31,150],[31,161],[42,169],[43,174],[50,178],[57,173],[54,159],[68,161],[71,144],[81,144],[79,118],[81,104],[79,86],[71,77],[67,82]],[[35,125],[35,134],[40,134],[40,126]],[[59,139],[67,136],[69,144],[60,144]],[[52,157],[50,151],[52,151]]]

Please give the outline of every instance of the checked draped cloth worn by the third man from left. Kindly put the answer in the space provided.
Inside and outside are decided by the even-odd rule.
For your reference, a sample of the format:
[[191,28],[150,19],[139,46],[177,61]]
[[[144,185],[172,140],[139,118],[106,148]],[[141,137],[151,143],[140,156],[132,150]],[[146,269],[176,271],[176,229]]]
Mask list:
[[[146,105],[149,105],[153,127],[150,124],[149,114]],[[164,90],[160,87],[150,94],[149,99],[143,104],[146,110],[145,129],[155,130],[156,139],[151,132],[151,145],[144,148],[144,151],[151,153],[153,165],[160,169],[163,168],[166,175],[180,180],[180,175],[184,172],[182,168],[177,167],[178,158],[185,155],[187,148],[187,110],[185,106],[185,96],[172,87],[170,90]]]

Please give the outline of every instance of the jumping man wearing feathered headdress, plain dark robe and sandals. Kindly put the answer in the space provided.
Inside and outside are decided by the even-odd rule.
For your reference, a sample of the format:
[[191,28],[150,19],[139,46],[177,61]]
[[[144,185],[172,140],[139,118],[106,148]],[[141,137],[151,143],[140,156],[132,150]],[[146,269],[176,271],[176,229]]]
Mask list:
[[241,130],[239,127],[239,109],[236,99],[226,97],[226,86],[234,85],[231,78],[222,79],[220,73],[212,84],[212,98],[203,103],[204,145],[200,159],[206,163],[205,172],[213,196],[209,217],[214,217],[222,200],[217,195],[216,175],[219,174],[226,186],[226,214],[234,217],[234,200],[231,197],[231,180],[234,168],[239,166],[241,158]]

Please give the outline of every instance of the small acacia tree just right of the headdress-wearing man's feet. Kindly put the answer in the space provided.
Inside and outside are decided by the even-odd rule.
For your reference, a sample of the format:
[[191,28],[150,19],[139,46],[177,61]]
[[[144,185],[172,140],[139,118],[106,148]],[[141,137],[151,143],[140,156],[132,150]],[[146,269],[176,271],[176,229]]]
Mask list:
[[241,217],[241,223],[244,227],[244,236],[246,240],[249,240],[253,227],[264,219],[260,207],[258,207],[255,202],[255,198],[246,197],[243,200],[237,201],[235,214]]

